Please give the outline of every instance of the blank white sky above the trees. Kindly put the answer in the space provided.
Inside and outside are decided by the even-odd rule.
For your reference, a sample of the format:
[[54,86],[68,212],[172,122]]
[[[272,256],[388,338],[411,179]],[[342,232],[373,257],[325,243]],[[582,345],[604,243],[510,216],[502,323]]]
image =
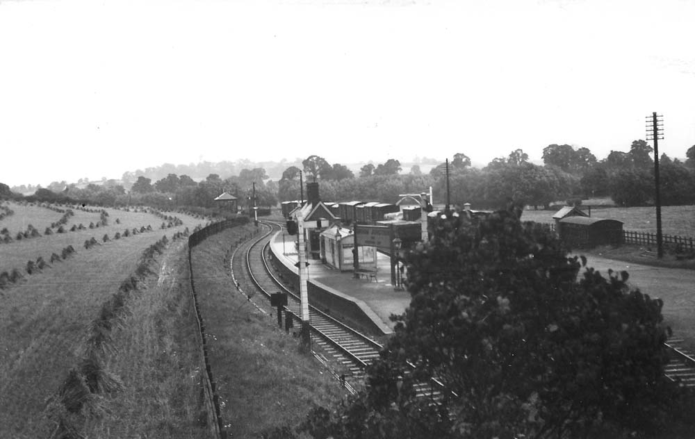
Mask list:
[[0,182],[695,144],[695,0],[0,0]]

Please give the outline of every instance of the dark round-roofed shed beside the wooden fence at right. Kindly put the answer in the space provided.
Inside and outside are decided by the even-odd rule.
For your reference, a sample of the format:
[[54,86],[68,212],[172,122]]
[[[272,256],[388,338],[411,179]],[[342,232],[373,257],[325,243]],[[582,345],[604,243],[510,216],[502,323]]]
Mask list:
[[559,219],[560,239],[572,248],[623,243],[623,222],[617,219],[571,216]]

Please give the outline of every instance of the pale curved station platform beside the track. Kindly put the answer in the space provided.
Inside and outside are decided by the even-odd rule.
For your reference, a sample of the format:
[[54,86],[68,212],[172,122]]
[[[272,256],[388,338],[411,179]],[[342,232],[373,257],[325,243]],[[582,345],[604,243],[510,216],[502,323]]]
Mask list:
[[[276,233],[270,240],[271,251],[286,270],[298,276],[299,270],[295,267],[298,258],[293,242],[295,237],[283,233]],[[395,323],[389,317],[404,313],[411,297],[409,292],[397,291],[391,284],[388,256],[377,253],[375,276],[360,279],[355,279],[352,271],[332,269],[320,260],[308,262],[310,304],[314,305],[314,299],[317,299],[320,308],[329,308],[334,317],[342,315],[346,320],[359,320],[361,326],[369,326],[368,329],[377,335],[393,333]]]

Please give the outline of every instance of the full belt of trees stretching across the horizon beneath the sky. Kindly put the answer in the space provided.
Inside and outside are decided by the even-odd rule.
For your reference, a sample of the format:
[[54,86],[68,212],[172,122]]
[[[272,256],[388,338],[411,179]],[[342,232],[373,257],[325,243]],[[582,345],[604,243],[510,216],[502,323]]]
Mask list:
[[[611,197],[618,206],[653,204],[652,155],[652,147],[644,140],[632,142],[628,152],[611,151],[603,160],[597,160],[587,148],[550,144],[543,149],[543,165],[530,163],[528,154],[521,149],[495,158],[482,168],[472,167],[471,159],[458,153],[450,160],[450,201],[455,206],[468,202],[476,208],[498,208],[509,199],[548,208],[554,201],[578,204],[593,197]],[[685,162],[666,154],[660,157],[664,205],[695,203],[695,145],[687,150],[686,157]],[[161,171],[160,167],[156,169]],[[322,199],[327,201],[395,202],[400,193],[420,192],[433,186],[441,203],[446,193],[444,163],[433,167],[428,174],[423,174],[418,165],[402,173],[400,161],[390,158],[384,163],[364,165],[355,176],[341,163],[331,164],[325,158],[311,155],[302,160],[301,167],[295,164],[286,167],[277,182],[268,178],[265,168],[254,167],[241,169],[238,176],[224,179],[220,174],[208,174],[198,182],[187,174],[170,173],[154,182],[138,175],[129,181],[129,192],[115,180],[102,179],[101,185],[90,183],[83,188],[61,181],[51,183],[48,188],[37,187],[28,199],[71,199],[99,206],[149,204],[211,208],[213,199],[226,191],[238,197],[239,205],[245,207],[250,203],[255,182],[257,204],[275,206],[277,201],[300,198],[300,171],[304,172],[306,181],[321,181]],[[7,185],[0,185],[0,197],[21,198]]]

